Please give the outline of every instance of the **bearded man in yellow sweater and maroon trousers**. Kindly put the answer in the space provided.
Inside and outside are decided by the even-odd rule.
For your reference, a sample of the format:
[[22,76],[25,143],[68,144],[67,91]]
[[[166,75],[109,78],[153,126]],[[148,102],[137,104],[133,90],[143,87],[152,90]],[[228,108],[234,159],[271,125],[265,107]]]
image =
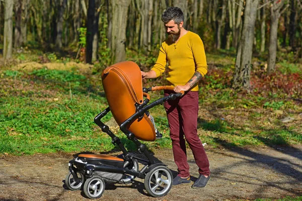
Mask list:
[[[209,161],[197,135],[198,82],[207,73],[204,46],[197,34],[184,29],[184,14],[180,8],[169,7],[162,14],[162,21],[168,38],[162,43],[156,64],[148,72],[141,71],[141,76],[143,79],[161,76],[168,61],[167,85],[174,86],[175,92],[185,91],[183,96],[164,103],[174,161],[178,167],[178,175],[173,179],[173,185],[191,182],[187,141],[199,167],[199,177],[192,188],[200,188],[210,178]],[[165,95],[172,92],[167,90]]]

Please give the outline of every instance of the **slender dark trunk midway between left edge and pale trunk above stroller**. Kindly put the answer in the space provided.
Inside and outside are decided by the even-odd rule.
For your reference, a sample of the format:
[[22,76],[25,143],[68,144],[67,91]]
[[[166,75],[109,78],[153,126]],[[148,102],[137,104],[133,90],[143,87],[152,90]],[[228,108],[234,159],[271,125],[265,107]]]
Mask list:
[[59,52],[62,48],[62,33],[63,33],[63,22],[64,22],[63,15],[66,5],[66,0],[58,0],[57,4],[58,4],[57,5],[58,15],[57,15],[57,24],[56,24],[57,35],[56,35],[55,45],[56,45],[56,50]]

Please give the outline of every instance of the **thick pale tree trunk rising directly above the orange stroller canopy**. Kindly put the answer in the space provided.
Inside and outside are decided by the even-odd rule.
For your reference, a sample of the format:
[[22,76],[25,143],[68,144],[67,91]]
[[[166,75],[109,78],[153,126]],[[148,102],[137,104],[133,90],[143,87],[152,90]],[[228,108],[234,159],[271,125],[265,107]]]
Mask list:
[[112,2],[112,36],[111,51],[114,63],[125,60],[126,23],[130,0],[111,0]]

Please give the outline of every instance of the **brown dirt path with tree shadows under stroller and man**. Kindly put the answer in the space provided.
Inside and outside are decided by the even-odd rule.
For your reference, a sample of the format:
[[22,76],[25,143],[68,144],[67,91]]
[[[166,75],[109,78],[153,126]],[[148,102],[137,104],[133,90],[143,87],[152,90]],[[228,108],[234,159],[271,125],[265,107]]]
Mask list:
[[[207,149],[211,179],[203,189],[173,186],[165,197],[146,194],[143,180],[110,184],[100,200],[235,200],[302,195],[302,145],[275,148]],[[189,153],[191,153],[189,151]],[[170,149],[154,155],[176,170]],[[64,189],[72,154],[36,154],[0,158],[0,200],[89,200],[84,192]],[[198,177],[193,156],[191,175]],[[173,171],[174,176],[176,172]]]

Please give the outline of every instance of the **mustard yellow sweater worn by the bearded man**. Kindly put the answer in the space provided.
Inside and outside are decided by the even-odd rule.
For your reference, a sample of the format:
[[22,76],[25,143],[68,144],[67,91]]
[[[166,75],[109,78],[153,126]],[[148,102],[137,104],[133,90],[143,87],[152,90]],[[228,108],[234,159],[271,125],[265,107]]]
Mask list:
[[[162,43],[157,62],[151,69],[156,72],[157,77],[165,72],[167,61],[169,62],[167,80],[172,86],[185,85],[195,71],[200,72],[202,76],[207,73],[203,43],[197,34],[190,31],[177,43],[171,43],[169,39]],[[191,90],[198,91],[198,85]]]

